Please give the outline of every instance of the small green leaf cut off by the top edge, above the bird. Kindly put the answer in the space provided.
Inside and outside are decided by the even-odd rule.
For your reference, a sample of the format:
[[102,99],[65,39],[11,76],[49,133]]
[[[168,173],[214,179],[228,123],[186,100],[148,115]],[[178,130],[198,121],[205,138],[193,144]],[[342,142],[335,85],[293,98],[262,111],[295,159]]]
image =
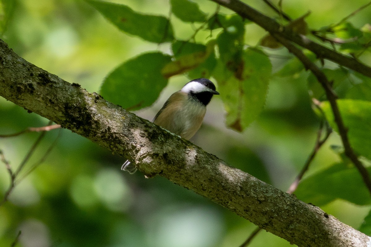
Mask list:
[[189,0],[170,0],[171,12],[185,22],[203,22],[206,14],[198,7],[197,3]]

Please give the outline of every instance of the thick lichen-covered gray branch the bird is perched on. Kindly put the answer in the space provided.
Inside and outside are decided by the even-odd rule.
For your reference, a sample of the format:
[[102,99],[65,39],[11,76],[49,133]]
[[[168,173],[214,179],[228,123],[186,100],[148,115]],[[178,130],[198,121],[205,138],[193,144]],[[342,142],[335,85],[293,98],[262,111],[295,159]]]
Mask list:
[[[17,56],[0,40],[0,95],[191,189],[298,246],[366,247],[370,238],[135,114]],[[118,164],[119,165],[119,164]]]

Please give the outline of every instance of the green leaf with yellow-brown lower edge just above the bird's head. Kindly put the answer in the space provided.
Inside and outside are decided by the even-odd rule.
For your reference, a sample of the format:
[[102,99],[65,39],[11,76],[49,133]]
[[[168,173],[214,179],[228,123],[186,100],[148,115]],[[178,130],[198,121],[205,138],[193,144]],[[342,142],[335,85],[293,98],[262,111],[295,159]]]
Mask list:
[[[161,71],[161,73],[169,78],[171,76],[185,73],[191,69],[197,68],[204,63],[211,53],[214,51],[215,41],[211,40],[206,46],[194,43],[184,43],[181,47],[178,43],[173,46],[173,50],[179,51],[175,61],[168,63]],[[184,49],[183,49],[184,48]],[[183,54],[183,55],[182,55]]]

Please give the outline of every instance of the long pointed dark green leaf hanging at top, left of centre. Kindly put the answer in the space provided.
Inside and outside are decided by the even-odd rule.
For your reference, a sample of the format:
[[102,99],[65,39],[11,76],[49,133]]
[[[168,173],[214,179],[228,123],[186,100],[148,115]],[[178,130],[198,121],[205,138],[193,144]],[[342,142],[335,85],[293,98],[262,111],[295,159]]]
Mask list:
[[139,14],[126,5],[86,0],[120,30],[154,43],[174,40],[170,21],[163,16]]

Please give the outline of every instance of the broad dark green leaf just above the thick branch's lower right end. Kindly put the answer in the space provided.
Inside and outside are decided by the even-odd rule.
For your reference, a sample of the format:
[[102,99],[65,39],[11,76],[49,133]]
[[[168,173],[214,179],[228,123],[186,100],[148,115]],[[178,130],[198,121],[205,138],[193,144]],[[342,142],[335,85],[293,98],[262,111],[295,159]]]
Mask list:
[[[367,168],[371,172],[371,168]],[[298,199],[323,206],[336,198],[358,205],[371,204],[370,192],[357,168],[338,163],[301,181],[295,191]]]

